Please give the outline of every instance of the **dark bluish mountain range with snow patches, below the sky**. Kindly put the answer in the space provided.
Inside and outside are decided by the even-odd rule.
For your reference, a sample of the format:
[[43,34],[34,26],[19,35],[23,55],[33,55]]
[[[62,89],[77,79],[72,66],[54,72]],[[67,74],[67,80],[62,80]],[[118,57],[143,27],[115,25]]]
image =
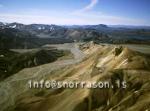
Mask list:
[[0,22],[0,48],[34,48],[74,41],[96,43],[150,43],[148,26],[21,24]]

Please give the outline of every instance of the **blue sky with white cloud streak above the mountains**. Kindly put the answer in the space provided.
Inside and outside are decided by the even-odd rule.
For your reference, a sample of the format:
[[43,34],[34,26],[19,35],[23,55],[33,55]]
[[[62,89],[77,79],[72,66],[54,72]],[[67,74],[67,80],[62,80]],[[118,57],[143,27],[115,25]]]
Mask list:
[[150,26],[150,0],[0,0],[0,21]]

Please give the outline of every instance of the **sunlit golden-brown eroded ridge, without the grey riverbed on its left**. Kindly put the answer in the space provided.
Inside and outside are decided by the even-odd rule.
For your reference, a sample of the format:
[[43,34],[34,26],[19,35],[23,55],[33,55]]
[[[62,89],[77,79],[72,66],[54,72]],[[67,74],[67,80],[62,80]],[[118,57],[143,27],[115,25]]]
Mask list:
[[[109,81],[112,88],[33,89],[21,93],[7,111],[148,111],[150,59],[126,47],[83,44],[82,62],[64,66],[45,79]],[[30,72],[29,72],[30,73]],[[126,81],[117,88],[115,81]]]

